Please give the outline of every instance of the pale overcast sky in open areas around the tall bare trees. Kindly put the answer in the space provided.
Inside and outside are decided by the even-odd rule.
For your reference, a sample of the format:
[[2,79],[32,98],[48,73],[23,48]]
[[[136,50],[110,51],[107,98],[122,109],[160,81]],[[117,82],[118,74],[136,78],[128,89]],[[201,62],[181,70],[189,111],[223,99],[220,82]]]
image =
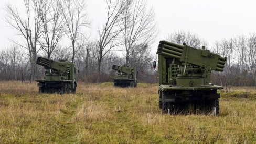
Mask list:
[[[16,31],[3,20],[6,3],[23,5],[22,0],[1,1],[0,49],[12,44],[9,39],[19,38]],[[159,40],[178,30],[195,33],[209,44],[222,38],[256,32],[256,1],[253,0],[148,0],[148,7],[151,6],[155,10],[159,29],[158,37],[151,46],[156,49]],[[106,4],[104,0],[88,0],[87,8],[91,21],[91,30],[87,33],[93,39],[106,17]]]

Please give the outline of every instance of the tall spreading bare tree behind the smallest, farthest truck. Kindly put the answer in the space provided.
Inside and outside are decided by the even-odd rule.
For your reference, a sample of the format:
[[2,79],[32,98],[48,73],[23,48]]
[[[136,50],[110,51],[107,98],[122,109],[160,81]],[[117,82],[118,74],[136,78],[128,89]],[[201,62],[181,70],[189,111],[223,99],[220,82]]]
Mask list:
[[[144,0],[129,0],[122,13],[120,28],[126,50],[126,64],[135,45],[150,45],[158,34],[153,8],[147,10]],[[136,47],[140,49],[140,47]]]

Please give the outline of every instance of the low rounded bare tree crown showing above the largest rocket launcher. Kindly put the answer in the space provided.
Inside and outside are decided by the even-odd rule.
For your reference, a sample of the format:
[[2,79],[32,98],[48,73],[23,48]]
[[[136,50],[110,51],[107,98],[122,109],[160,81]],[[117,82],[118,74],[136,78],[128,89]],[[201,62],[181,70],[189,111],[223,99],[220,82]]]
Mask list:
[[[201,39],[196,35],[191,33],[190,31],[177,31],[170,34],[167,38],[167,41],[183,44],[186,43],[188,46],[200,48],[201,44],[207,44],[205,41],[201,41]],[[205,45],[206,46],[206,45]]]

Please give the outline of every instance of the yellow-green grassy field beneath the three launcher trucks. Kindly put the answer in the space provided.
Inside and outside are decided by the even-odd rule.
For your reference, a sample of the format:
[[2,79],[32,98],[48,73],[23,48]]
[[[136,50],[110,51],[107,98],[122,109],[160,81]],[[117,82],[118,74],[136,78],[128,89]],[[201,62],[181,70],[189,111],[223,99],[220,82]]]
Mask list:
[[0,82],[1,143],[256,143],[256,90],[222,93],[220,116],[162,115],[157,85],[79,83],[77,94],[38,94]]

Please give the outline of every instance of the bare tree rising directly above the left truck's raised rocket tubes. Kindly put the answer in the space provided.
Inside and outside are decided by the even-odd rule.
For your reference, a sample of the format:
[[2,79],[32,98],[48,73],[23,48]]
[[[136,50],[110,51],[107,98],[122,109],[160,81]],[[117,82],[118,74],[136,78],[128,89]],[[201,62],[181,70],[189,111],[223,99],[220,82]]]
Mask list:
[[39,41],[42,50],[51,58],[51,54],[55,52],[58,42],[64,35],[65,24],[61,19],[61,2],[59,0],[39,0],[44,7],[40,15],[42,21],[42,41]]

